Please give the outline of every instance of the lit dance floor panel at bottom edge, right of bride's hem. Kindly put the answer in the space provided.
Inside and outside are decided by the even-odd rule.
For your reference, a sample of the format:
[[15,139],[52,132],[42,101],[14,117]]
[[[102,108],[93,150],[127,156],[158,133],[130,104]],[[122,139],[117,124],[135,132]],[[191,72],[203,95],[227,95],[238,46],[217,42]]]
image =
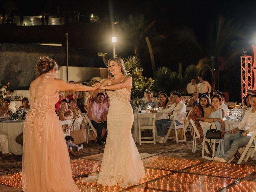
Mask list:
[[143,186],[168,191],[210,192],[220,190],[235,181],[230,178],[176,172]]

